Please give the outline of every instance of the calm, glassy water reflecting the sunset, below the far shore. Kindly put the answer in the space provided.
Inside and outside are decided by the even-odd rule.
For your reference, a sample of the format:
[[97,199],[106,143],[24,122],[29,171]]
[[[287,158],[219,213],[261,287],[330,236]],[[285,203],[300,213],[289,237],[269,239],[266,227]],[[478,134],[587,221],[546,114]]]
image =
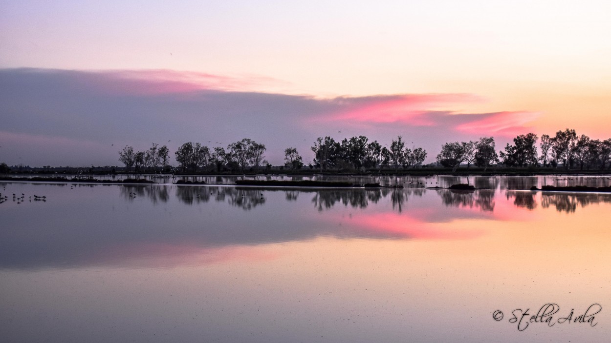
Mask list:
[[611,194],[519,190],[607,177],[378,181],[0,182],[1,341],[608,342]]

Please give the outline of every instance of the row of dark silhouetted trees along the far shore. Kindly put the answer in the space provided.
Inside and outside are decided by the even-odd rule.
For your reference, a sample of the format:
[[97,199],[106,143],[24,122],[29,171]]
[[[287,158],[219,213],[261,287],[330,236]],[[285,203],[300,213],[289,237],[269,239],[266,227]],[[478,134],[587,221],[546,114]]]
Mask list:
[[[587,135],[577,136],[575,130],[558,131],[551,137],[541,135],[539,149],[538,137],[532,132],[518,135],[513,144],[507,143],[503,151],[497,153],[494,137],[481,137],[477,141],[444,143],[441,152],[436,156],[436,164],[431,167],[452,168],[455,172],[459,166],[470,165],[483,168],[484,172],[492,165],[502,164],[505,167],[551,167],[561,165],[566,168],[605,169],[611,168],[611,139],[594,140]],[[370,142],[364,135],[335,141],[332,137],[318,137],[310,150],[314,158],[310,169],[329,170],[375,170],[392,169],[398,171],[422,167],[427,152],[423,148],[406,148],[403,137],[392,139],[390,146],[382,146],[376,140]],[[538,153],[538,150],[541,153]],[[183,171],[254,171],[270,168],[265,159],[266,147],[251,139],[242,139],[227,145],[227,148],[208,146],[187,142],[175,151],[178,168]],[[304,160],[296,148],[285,149],[284,167],[291,171],[304,166]],[[134,151],[125,146],[119,151],[119,161],[125,164],[128,171],[157,171],[169,167],[169,149],[167,146],[153,145],[145,151]]]

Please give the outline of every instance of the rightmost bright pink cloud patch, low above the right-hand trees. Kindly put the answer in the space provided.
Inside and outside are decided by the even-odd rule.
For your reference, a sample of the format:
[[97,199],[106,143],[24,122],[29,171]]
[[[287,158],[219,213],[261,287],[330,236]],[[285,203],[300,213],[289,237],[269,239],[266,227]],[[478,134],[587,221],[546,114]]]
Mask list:
[[481,115],[479,120],[469,121],[456,126],[456,130],[470,134],[485,132],[489,135],[504,135],[514,137],[524,134],[525,127],[540,114],[537,112],[495,112]]

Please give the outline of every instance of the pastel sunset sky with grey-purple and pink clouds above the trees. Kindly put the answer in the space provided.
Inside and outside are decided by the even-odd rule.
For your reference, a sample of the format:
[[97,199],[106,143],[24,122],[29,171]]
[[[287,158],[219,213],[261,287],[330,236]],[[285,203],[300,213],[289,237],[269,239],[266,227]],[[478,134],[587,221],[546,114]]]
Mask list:
[[[0,163],[243,138],[611,137],[609,1],[0,0]],[[172,161],[174,162],[174,161]],[[175,163],[175,162],[174,162]]]

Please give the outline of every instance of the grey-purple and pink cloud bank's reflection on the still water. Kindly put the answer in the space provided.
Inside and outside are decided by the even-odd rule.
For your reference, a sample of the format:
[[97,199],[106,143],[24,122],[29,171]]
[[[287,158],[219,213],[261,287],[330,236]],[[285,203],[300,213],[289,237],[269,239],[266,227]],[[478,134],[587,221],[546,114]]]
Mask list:
[[502,190],[5,185],[48,200],[1,205],[0,267],[10,269],[258,261],[273,258],[264,245],[320,237],[471,239],[482,232],[470,220],[611,203],[608,194]]

